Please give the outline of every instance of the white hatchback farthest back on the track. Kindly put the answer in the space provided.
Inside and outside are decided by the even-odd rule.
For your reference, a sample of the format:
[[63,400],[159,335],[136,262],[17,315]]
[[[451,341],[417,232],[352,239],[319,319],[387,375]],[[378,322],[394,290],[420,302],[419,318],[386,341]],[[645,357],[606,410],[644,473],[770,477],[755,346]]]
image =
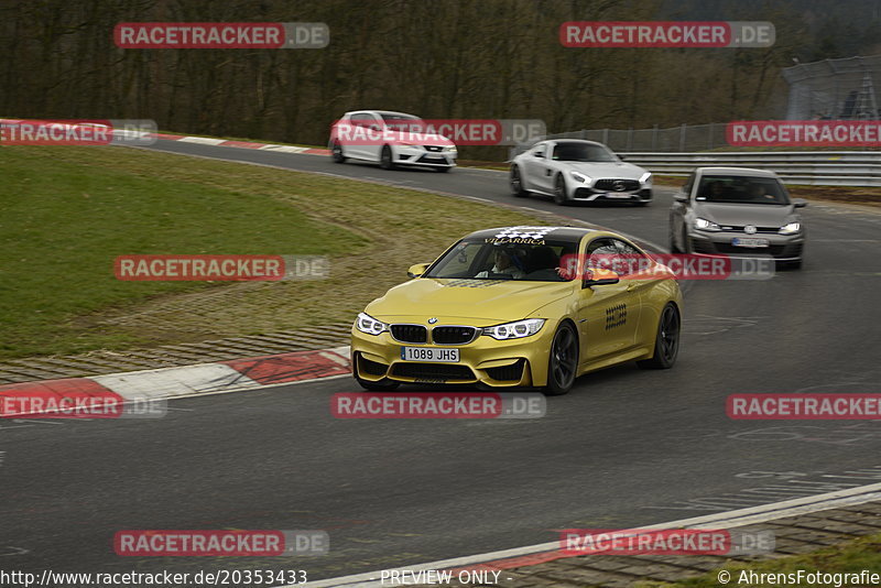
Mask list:
[[399,165],[448,172],[456,166],[456,145],[431,132],[418,117],[389,110],[346,112],[330,128],[330,156],[379,163],[385,170]]

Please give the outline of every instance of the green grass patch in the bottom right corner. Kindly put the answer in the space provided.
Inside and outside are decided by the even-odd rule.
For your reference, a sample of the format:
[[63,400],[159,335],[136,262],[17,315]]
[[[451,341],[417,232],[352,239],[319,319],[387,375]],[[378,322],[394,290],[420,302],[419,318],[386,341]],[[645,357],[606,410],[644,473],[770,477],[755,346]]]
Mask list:
[[[728,586],[752,586],[752,587],[776,587],[776,586],[798,586],[796,581],[783,584],[774,582],[749,582],[738,584],[743,570],[752,570],[757,574],[790,574],[797,573],[800,569],[805,573],[849,573],[859,574],[867,569],[870,573],[881,574],[881,534],[860,537],[840,545],[826,547],[814,553],[781,557],[777,559],[755,560],[749,564],[737,564],[724,566],[719,569],[727,570],[731,576]],[[746,576],[744,579],[749,577]],[[768,578],[768,577],[765,577]],[[654,582],[641,581],[634,584],[634,588],[719,588],[722,584],[718,579],[718,570],[705,576],[682,580],[677,582]],[[802,580],[801,586],[815,586]],[[818,585],[816,585],[818,586]],[[828,586],[835,586],[830,584]],[[861,584],[844,582],[842,586],[861,586]],[[867,585],[868,586],[868,585]]]

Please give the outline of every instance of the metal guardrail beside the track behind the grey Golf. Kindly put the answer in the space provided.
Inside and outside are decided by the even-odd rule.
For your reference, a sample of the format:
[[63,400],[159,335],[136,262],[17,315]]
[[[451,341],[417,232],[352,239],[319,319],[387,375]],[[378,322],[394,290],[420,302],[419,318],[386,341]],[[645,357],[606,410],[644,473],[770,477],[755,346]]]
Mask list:
[[686,176],[696,167],[758,167],[785,184],[881,186],[878,151],[769,151],[716,153],[620,153],[628,162],[662,175]]

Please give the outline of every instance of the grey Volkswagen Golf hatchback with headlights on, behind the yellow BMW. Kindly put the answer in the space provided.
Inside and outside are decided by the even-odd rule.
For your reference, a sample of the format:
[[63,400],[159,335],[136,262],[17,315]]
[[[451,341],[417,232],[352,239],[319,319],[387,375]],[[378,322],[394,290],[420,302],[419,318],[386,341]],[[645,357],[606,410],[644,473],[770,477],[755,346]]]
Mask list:
[[698,167],[674,194],[670,249],[674,253],[771,255],[798,268],[805,225],[773,172],[747,167]]

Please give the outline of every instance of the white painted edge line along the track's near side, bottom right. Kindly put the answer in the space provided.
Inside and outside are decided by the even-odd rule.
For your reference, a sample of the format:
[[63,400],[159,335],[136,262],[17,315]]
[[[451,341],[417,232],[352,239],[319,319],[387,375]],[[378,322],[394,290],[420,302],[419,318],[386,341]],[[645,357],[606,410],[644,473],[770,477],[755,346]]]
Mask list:
[[[771,504],[762,504],[759,507],[751,507],[749,509],[740,509],[736,511],[719,512],[704,516],[695,516],[692,519],[683,519],[679,521],[671,521],[668,523],[659,523],[655,525],[640,526],[641,530],[659,530],[659,529],[710,529],[708,524],[713,524],[711,529],[733,529],[737,526],[750,525],[783,519],[786,516],[796,516],[798,514],[807,514],[811,512],[824,511],[836,509],[840,507],[848,507],[853,504],[862,504],[873,500],[881,500],[881,483],[873,483],[869,486],[860,486],[858,488],[850,488],[847,490],[838,490],[836,492],[828,492],[825,494],[817,494],[814,497],[805,497],[783,502],[773,502]],[[500,552],[490,552],[479,555],[468,555],[464,557],[456,557],[453,559],[443,559],[438,562],[429,562],[427,564],[418,564],[415,566],[407,566],[402,568],[387,568],[396,570],[420,571],[427,569],[449,569],[464,567],[469,565],[477,565],[485,562],[493,562],[497,559],[508,559],[511,557],[520,557],[524,555],[534,555],[539,553],[556,552],[559,549],[559,542],[554,541],[551,543],[542,543],[539,545],[530,545],[526,547],[516,547],[513,549],[504,549]],[[326,580],[311,581],[305,585],[285,585],[284,588],[328,588],[328,587],[346,587],[346,588],[374,588],[384,586],[378,578],[380,571],[368,571],[365,574],[356,574],[352,576],[342,576],[339,578],[329,578]]]

